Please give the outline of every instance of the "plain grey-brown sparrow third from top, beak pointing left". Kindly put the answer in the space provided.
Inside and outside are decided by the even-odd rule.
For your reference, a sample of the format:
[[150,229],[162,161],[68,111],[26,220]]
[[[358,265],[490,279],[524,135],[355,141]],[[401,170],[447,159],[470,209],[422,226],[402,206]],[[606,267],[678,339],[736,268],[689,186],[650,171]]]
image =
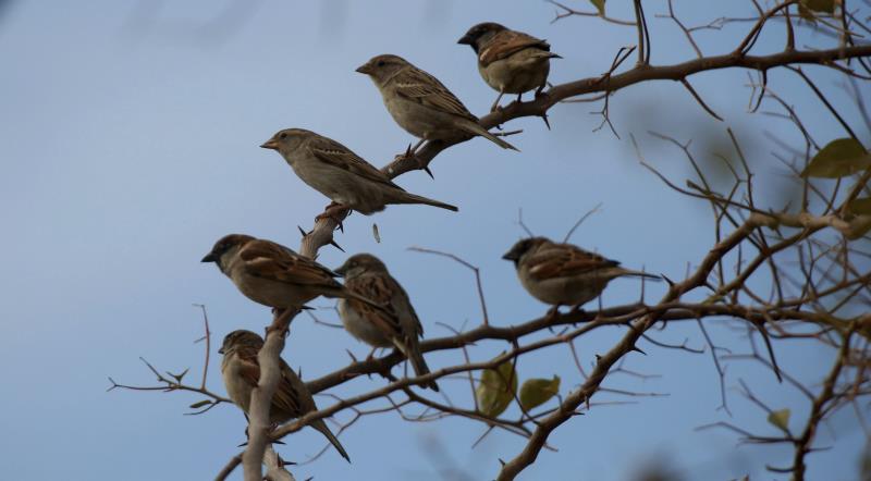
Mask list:
[[281,153],[303,182],[333,202],[366,215],[384,210],[388,203],[426,203],[458,210],[403,190],[347,147],[310,131],[285,128],[260,147]]

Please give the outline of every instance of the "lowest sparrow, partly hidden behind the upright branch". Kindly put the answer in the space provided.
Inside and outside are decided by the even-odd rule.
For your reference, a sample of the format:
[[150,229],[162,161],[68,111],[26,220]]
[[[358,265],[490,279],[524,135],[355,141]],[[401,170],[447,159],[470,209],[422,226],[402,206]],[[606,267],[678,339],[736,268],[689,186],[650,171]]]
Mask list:
[[[252,403],[252,390],[257,386],[260,380],[260,365],[257,360],[257,353],[263,347],[263,340],[250,331],[233,331],[224,337],[224,343],[218,350],[223,354],[221,361],[221,375],[226,386],[226,394],[233,399],[245,414],[248,414]],[[272,404],[269,407],[269,422],[273,424],[283,423],[291,419],[299,418],[308,412],[318,410],[311,393],[308,392],[303,380],[293,372],[284,359],[281,361],[281,380],[272,396]],[[318,430],[335,447],[348,462],[342,443],[333,435],[323,419],[312,421],[310,427]]]

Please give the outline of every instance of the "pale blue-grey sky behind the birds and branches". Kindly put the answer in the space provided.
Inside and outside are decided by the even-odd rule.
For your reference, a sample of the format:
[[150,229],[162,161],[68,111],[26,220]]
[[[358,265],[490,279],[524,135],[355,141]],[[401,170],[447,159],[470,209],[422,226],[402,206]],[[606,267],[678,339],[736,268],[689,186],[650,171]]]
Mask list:
[[[615,17],[630,18],[629,2],[611,2]],[[624,4],[625,3],[625,4]],[[677,1],[689,24],[716,16],[753,14],[747,2]],[[575,2],[588,9],[586,2]],[[649,1],[653,63],[689,60],[694,52],[663,13],[664,1]],[[538,1],[7,1],[0,9],[0,219],[5,275],[0,276],[0,319],[4,346],[0,373],[0,470],[4,479],[155,480],[207,479],[240,451],[244,418],[230,405],[205,416],[182,416],[201,396],[114,391],[107,377],[148,385],[154,377],[138,360],[161,370],[189,367],[198,382],[203,344],[199,311],[208,306],[214,343],[238,328],[260,331],[269,311],[240,295],[212,264],[199,259],[226,233],[243,232],[298,246],[297,225],[308,227],[328,203],[296,178],[273,151],[258,146],[275,131],[297,126],[335,138],[381,165],[414,139],[396,126],[381,98],[354,69],[379,53],[396,53],[438,76],[473,111],[484,113],[495,97],[479,77],[473,52],[456,40],[482,21],[496,21],[547,38],[564,57],[554,61],[551,81],[563,83],[606,71],[635,30],[597,18],[573,17],[551,24],[554,9]],[[710,53],[734,48],[749,25],[702,33]],[[778,50],[780,28],[770,28],[757,52]],[[798,45],[825,39],[801,34]],[[630,66],[635,59],[626,62]],[[834,86],[836,77],[808,69],[861,130],[856,109]],[[678,183],[691,175],[673,147],[650,137],[657,130],[710,159],[729,153],[732,126],[752,158],[762,201],[781,207],[789,198],[786,170],[763,136],[771,132],[799,145],[788,124],[746,113],[749,88],[743,71],[714,72],[692,83],[725,123],[707,116],[679,84],[643,84],[619,91],[611,115],[621,134],[600,123],[599,104],[563,104],[551,111],[553,130],[539,119],[512,122],[524,128],[511,138],[523,152],[473,139],[440,155],[422,172],[397,183],[410,192],[461,207],[451,213],[428,207],[391,207],[345,222],[338,242],[348,252],[380,256],[408,291],[427,337],[480,322],[469,271],[445,259],[410,252],[424,246],[453,252],[479,266],[491,322],[508,325],[542,314],[501,255],[523,235],[517,211],[537,234],[561,238],[599,202],[573,240],[618,259],[679,279],[711,246],[710,209],[683,198],[641,168],[628,141],[634,133],[648,159]],[[837,124],[792,74],[772,72],[771,86],[795,103],[819,143],[843,136]],[[862,134],[868,138],[867,134]],[[803,145],[803,144],[802,144]],[[371,235],[377,222],[381,243]],[[345,255],[327,247],[319,260],[339,266]],[[663,293],[648,285],[648,299]],[[633,301],[639,284],[616,281],[604,305]],[[319,306],[329,306],[320,300]],[[593,308],[594,305],[588,306]],[[324,320],[335,320],[329,311]],[[720,344],[746,351],[724,322],[711,321]],[[597,331],[578,343],[589,366],[624,330]],[[657,333],[663,342],[703,340],[695,324],[673,323]],[[482,343],[473,350],[487,359],[506,346]],[[725,431],[696,432],[731,421],[775,435],[765,414],[741,399],[734,387],[744,379],[775,408],[793,410],[793,427],[803,423],[809,404],[795,390],[777,385],[771,372],[733,362],[727,386],[733,418],[719,410],[719,380],[708,354],[694,356],[641,343],[648,356],[630,354],[625,367],[662,378],[645,382],[615,374],[606,386],[668,393],[668,397],[626,398],[602,393],[596,400],[637,404],[593,407],[560,428],[522,479],[630,480],[645,466],[662,464],[684,479],[777,479],[766,464],[788,466],[785,446],[736,446]],[[284,358],[304,378],[348,362],[345,349],[361,357],[368,347],[340,330],[303,317],[293,325]],[[829,369],[831,351],[812,343],[777,348],[782,366],[806,381]],[[213,346],[217,350],[217,346]],[[456,353],[428,355],[431,367],[459,361]],[[212,353],[208,385],[223,393],[220,357]],[[524,358],[522,379],[563,378],[562,392],[579,383],[568,349],[557,347]],[[361,393],[380,379],[355,380],[336,394]],[[471,406],[465,381],[443,380],[452,399]],[[429,395],[429,393],[427,393]],[[321,406],[330,399],[319,397]],[[516,407],[506,415],[517,416]],[[417,410],[413,410],[417,411]],[[340,419],[347,420],[346,416]],[[830,429],[831,428],[831,429]],[[524,440],[491,433],[471,445],[486,427],[463,419],[409,423],[394,414],[358,421],[341,441],[353,465],[332,449],[294,469],[297,479],[490,479],[499,458],[514,457]],[[837,437],[833,437],[837,433]],[[302,461],[324,444],[306,430],[279,451]],[[841,415],[820,431],[809,456],[808,479],[856,478],[863,436],[851,415]],[[465,474],[461,474],[465,473]],[[462,476],[466,476],[463,478]],[[241,479],[237,470],[234,479]]]

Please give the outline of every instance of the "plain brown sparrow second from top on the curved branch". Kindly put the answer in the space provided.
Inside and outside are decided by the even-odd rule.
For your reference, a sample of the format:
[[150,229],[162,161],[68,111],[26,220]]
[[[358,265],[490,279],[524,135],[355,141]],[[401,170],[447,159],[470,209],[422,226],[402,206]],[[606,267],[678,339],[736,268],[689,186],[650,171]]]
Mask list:
[[420,138],[409,153],[425,140],[444,140],[480,135],[504,149],[514,146],[487,132],[478,118],[466,109],[438,78],[406,62],[383,54],[360,65],[357,72],[369,75],[381,91],[393,120],[409,134]]

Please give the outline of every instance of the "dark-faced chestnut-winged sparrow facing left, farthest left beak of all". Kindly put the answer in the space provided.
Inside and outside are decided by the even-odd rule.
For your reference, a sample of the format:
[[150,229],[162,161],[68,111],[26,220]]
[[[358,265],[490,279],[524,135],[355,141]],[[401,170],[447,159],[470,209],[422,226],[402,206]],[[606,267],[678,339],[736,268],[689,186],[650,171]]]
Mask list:
[[318,296],[349,297],[381,308],[345,288],[335,272],[271,240],[229,234],[203,262],[214,262],[247,298],[274,309],[300,309]]

